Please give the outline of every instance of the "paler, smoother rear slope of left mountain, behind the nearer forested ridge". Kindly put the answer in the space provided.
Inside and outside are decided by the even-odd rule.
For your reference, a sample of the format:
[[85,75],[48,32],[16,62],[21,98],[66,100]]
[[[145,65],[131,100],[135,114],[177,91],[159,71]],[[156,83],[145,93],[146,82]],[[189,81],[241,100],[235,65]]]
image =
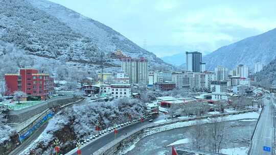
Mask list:
[[73,10],[65,8],[59,4],[55,4],[44,0],[27,0],[34,7],[55,16],[66,26],[75,32],[88,37],[99,47],[100,51],[110,53],[115,49],[121,49],[125,55],[131,57],[146,57],[152,64],[164,64],[162,60],[154,54],[139,47],[120,33],[112,30],[106,25],[85,17]]

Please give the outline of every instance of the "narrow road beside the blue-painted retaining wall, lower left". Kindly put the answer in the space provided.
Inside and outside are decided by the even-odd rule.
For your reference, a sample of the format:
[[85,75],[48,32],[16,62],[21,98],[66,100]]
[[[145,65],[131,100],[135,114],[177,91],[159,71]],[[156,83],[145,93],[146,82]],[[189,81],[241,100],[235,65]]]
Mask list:
[[15,150],[9,153],[9,155],[16,155],[24,151],[30,144],[32,144],[38,137],[39,135],[44,131],[46,126],[48,125],[48,122],[45,122],[42,124],[37,131],[35,131],[34,134],[31,135],[24,143],[16,147]]

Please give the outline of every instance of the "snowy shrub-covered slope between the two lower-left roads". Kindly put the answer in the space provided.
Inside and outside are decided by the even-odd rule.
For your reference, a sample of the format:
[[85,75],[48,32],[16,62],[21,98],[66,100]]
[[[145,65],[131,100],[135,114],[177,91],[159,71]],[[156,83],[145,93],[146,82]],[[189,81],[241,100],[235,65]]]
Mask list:
[[86,102],[68,107],[57,113],[43,133],[21,154],[50,154],[53,141],[60,140],[61,153],[74,149],[76,140],[87,139],[96,135],[96,123],[100,130],[111,127],[114,123],[128,121],[128,115],[137,118],[145,115],[146,107],[140,100],[120,98],[109,102]]

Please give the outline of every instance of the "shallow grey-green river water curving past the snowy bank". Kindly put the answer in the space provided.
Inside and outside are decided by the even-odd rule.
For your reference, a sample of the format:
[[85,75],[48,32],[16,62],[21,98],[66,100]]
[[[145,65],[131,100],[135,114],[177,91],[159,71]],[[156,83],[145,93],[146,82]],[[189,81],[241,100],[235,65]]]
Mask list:
[[[256,120],[225,121],[225,139],[221,148],[247,147],[256,123]],[[208,125],[210,124],[202,124],[202,130]],[[127,155],[171,154],[171,146],[168,145],[181,139],[191,139],[191,130],[194,130],[194,126],[149,135],[125,148],[123,152]],[[192,144],[188,142],[183,145],[189,148]]]

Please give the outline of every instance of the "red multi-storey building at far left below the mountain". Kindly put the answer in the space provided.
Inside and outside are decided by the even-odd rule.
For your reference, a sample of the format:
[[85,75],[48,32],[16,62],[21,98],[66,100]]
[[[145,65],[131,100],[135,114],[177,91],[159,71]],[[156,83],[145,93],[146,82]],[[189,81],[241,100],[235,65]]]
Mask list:
[[5,74],[8,91],[7,95],[19,90],[31,96],[49,97],[54,91],[54,79],[47,73],[38,73],[37,69],[22,68],[19,73]]

